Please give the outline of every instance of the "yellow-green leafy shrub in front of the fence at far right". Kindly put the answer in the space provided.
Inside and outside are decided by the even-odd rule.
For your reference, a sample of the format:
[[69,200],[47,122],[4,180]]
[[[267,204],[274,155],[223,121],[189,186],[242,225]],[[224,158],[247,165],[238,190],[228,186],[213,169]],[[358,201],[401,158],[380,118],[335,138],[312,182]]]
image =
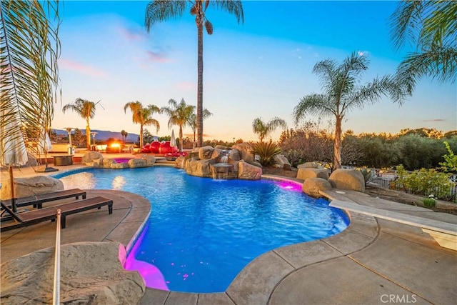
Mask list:
[[393,181],[396,189],[418,195],[433,194],[438,199],[446,198],[451,193],[449,174],[436,169],[418,169],[410,174],[402,165],[397,166],[396,170],[398,177]]

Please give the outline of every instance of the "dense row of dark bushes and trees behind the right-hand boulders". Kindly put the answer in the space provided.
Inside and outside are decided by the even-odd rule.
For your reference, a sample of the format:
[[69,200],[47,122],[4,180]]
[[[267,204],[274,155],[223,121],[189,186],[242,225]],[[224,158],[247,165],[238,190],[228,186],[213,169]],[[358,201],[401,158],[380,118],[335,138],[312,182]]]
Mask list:
[[[376,169],[403,164],[408,171],[438,168],[448,153],[445,142],[451,151],[457,151],[457,131],[443,134],[436,129],[405,129],[395,135],[356,135],[346,131],[341,143],[341,164]],[[307,122],[300,128],[283,131],[278,144],[292,166],[320,161],[333,167],[333,134],[320,129],[317,123]]]

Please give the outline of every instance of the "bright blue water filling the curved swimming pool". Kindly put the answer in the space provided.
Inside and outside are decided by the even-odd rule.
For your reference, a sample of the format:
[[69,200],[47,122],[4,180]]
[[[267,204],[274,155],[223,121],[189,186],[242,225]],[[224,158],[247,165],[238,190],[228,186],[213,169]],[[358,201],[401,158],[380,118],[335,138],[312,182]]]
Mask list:
[[117,189],[149,199],[149,224],[131,251],[131,269],[149,269],[142,273],[146,284],[171,291],[225,291],[266,251],[332,236],[348,226],[340,210],[291,182],[213,180],[166,166],[58,178],[66,189]]

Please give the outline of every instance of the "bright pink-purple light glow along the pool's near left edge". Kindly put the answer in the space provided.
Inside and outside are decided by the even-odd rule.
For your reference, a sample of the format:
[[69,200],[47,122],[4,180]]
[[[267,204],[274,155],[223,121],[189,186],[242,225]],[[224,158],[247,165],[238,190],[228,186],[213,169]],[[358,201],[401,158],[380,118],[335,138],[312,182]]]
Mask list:
[[127,256],[124,269],[129,271],[138,271],[141,277],[143,277],[144,283],[147,287],[169,291],[170,289],[166,286],[164,274],[161,273],[159,268],[153,264],[147,263],[146,261],[139,261],[135,259],[135,254],[144,239],[145,233],[146,228],[143,229],[143,232],[131,249],[129,256]]

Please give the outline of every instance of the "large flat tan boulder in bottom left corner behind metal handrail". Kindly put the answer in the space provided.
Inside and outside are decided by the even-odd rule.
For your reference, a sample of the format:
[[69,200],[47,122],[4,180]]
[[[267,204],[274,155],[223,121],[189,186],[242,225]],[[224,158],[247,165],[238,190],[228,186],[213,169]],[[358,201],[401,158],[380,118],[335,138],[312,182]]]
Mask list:
[[[61,246],[60,304],[139,304],[146,290],[138,271],[126,271],[121,244]],[[1,264],[1,304],[52,304],[54,247]]]

